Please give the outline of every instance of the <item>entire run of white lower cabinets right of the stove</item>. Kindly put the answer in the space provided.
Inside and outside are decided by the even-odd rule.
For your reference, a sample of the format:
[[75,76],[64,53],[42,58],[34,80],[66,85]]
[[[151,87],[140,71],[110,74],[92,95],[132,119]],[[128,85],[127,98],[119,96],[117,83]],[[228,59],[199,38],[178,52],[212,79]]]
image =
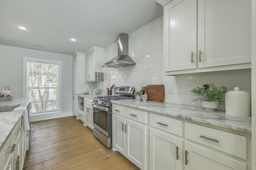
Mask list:
[[250,134],[112,106],[112,146],[142,170],[252,170]]

